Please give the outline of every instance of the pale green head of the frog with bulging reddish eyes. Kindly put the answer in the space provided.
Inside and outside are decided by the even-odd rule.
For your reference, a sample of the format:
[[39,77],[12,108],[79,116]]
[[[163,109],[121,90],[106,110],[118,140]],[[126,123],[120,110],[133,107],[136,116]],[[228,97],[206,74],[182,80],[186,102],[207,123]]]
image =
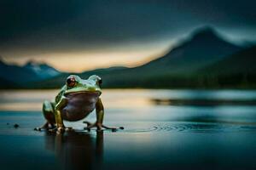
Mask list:
[[90,76],[87,80],[77,75],[70,75],[66,80],[65,94],[71,93],[99,93],[102,94],[102,78],[96,75]]

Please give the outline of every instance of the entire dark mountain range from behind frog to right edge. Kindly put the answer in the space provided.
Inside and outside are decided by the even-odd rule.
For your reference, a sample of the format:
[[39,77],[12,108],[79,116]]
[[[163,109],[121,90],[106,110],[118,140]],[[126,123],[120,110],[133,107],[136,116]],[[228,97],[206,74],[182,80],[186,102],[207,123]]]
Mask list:
[[[251,88],[256,82],[255,54],[255,46],[241,48],[212,28],[203,27],[145,65],[96,69],[78,75],[102,77],[103,88]],[[68,75],[62,73],[26,88],[60,88]]]

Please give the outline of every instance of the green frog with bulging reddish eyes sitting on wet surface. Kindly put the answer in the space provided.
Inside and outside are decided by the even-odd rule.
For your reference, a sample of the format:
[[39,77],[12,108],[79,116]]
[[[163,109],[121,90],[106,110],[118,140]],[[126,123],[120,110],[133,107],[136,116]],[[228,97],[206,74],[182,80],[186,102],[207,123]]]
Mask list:
[[87,124],[87,129],[96,127],[98,131],[103,129],[124,129],[124,127],[108,127],[103,124],[104,107],[101,99],[102,78],[96,75],[88,79],[82,79],[78,75],[70,75],[66,79],[66,84],[56,95],[54,101],[45,100],[43,103],[43,115],[46,120],[42,127],[36,127],[35,130],[47,130],[49,132],[63,133],[73,130],[72,127],[66,127],[63,120],[76,122],[84,119],[96,110],[96,122]]

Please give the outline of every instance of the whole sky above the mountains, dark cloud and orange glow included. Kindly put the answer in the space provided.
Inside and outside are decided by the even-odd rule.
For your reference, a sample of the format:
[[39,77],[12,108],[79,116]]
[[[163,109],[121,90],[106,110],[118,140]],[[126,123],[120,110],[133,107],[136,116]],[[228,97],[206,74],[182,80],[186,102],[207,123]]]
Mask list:
[[0,56],[73,72],[142,65],[201,26],[256,42],[255,8],[255,0],[1,0]]

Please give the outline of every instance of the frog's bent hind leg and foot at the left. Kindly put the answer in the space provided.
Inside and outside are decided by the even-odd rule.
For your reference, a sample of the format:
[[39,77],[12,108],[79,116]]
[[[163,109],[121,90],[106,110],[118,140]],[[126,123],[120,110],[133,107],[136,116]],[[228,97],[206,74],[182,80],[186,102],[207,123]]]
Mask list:
[[43,104],[43,114],[46,122],[42,127],[36,127],[35,130],[41,131],[42,129],[51,129],[55,128],[55,114],[54,114],[54,105],[55,103],[48,100],[44,101]]

